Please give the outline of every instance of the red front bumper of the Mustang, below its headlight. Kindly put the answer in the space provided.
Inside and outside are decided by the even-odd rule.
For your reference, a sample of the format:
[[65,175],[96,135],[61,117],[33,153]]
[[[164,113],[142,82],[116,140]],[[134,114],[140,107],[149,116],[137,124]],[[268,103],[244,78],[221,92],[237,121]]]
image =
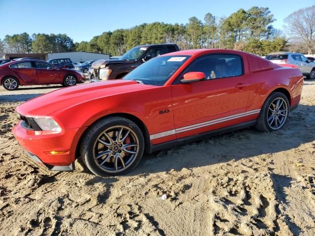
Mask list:
[[[16,140],[31,153],[32,159],[51,170],[63,171],[74,168],[76,145],[83,131],[84,128],[65,129],[59,133],[34,131],[24,128],[21,121],[12,129]],[[52,151],[62,153],[52,154]]]

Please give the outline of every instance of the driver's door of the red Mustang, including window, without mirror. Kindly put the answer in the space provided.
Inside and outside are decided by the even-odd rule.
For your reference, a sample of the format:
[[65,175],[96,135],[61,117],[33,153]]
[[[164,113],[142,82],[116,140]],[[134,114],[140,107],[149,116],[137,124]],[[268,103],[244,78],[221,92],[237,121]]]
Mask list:
[[[218,66],[220,64],[220,66]],[[204,72],[206,80],[171,86],[177,138],[219,129],[245,120],[250,89],[237,55],[206,55],[185,70]]]

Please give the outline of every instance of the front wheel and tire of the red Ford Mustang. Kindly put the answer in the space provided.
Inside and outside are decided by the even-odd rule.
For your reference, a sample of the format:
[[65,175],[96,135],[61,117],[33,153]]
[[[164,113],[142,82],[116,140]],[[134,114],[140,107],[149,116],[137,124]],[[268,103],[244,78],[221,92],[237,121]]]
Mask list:
[[144,138],[140,128],[129,119],[109,117],[97,121],[84,134],[80,158],[97,176],[117,176],[134,169],[143,151]]

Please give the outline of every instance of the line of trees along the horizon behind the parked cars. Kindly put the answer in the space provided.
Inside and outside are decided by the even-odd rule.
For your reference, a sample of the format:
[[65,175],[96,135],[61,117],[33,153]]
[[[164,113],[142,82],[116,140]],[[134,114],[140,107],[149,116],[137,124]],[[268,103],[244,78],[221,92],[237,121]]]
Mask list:
[[[30,36],[28,33],[21,33],[6,35],[3,40],[0,39],[0,52],[58,53],[83,51],[119,56],[137,45],[160,43],[175,43],[182,50],[222,48],[246,51],[260,56],[305,44],[307,47],[304,47],[303,50],[307,48],[309,52],[312,52],[315,35],[310,38],[304,34],[299,35],[298,32],[299,27],[307,28],[315,20],[314,15],[311,14],[314,13],[314,9],[315,6],[304,8],[286,18],[286,22],[290,24],[290,28],[287,29],[289,35],[293,35],[293,30],[296,31],[294,33],[295,41],[290,41],[290,44],[288,44],[288,39],[291,38],[282,36],[282,33],[273,27],[272,23],[276,19],[269,8],[253,6],[248,10],[239,9],[228,17],[219,18],[211,13],[207,13],[203,20],[191,17],[185,25],[154,22],[144,23],[130,29],[106,31],[101,35],[94,36],[89,42],[74,43],[66,34],[37,33]],[[305,11],[311,12],[304,14],[303,20],[306,23],[299,18]],[[313,20],[308,19],[311,16],[313,16]],[[295,28],[294,25],[296,25]]]

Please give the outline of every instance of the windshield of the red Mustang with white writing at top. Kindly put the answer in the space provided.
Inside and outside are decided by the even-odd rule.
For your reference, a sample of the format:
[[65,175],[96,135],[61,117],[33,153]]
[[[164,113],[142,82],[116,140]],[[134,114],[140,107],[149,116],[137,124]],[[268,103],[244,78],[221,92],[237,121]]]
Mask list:
[[146,85],[162,86],[190,56],[163,56],[151,59],[124,77]]

